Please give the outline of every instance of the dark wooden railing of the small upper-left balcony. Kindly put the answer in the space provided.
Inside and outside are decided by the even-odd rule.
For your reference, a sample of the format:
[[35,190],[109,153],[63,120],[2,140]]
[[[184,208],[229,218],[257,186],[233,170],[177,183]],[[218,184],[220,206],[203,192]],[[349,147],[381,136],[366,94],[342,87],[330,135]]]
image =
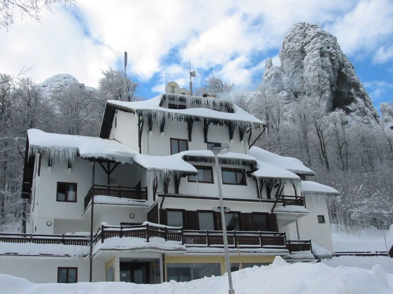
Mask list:
[[84,209],[91,200],[91,191],[93,189],[94,196],[112,196],[118,198],[127,198],[133,200],[147,200],[147,188],[146,187],[131,187],[121,185],[94,185],[87,192],[84,197]]

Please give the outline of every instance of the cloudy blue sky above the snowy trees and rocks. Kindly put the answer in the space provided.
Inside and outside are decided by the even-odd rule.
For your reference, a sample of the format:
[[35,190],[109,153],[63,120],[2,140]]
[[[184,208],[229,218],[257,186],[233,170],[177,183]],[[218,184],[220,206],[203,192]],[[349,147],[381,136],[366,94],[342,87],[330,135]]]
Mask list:
[[96,87],[102,70],[123,68],[126,50],[140,97],[171,80],[188,87],[189,60],[195,86],[214,74],[253,90],[267,58],[280,65],[286,31],[304,21],[337,36],[375,106],[392,102],[392,0],[77,0],[44,10],[41,24],[24,17],[1,29],[0,72],[33,66],[36,83],[69,73]]

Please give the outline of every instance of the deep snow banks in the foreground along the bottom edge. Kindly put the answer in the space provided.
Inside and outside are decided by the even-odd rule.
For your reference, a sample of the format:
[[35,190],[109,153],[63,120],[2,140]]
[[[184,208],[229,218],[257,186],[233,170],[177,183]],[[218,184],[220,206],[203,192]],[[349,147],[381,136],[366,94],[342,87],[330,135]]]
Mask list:
[[[253,267],[233,273],[236,294],[392,294],[393,274],[380,266],[372,270],[332,268],[323,263],[288,264],[281,257],[269,266]],[[1,293],[12,294],[226,294],[227,276],[205,277],[190,282],[157,285],[132,283],[34,284],[25,279],[0,275]]]

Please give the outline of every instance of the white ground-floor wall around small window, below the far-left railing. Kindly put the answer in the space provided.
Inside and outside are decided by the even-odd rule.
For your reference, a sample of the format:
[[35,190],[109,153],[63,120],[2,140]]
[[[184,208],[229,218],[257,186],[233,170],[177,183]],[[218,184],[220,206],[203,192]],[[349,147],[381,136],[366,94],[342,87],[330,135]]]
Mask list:
[[[34,283],[57,283],[58,267],[77,267],[78,282],[89,281],[89,259],[70,257],[0,256],[0,273]],[[105,281],[105,262],[93,261],[93,282]]]

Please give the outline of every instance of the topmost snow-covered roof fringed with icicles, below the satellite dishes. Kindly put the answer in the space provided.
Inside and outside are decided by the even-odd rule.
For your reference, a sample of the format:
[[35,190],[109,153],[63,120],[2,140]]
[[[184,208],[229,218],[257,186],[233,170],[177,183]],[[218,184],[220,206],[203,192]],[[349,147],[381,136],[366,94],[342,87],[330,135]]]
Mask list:
[[[151,98],[149,100],[135,101],[135,102],[108,100],[107,104],[125,110],[136,111],[141,115],[145,115],[145,114],[153,114],[155,116],[161,115],[170,120],[183,120],[185,117],[193,117],[193,118],[206,118],[206,119],[214,119],[214,120],[222,120],[222,121],[233,121],[234,123],[238,123],[238,124],[247,123],[252,125],[265,125],[265,123],[254,118],[251,114],[247,113],[239,106],[233,104],[230,101],[225,100],[225,104],[230,103],[231,108],[233,109],[233,113],[213,110],[212,105],[217,104],[217,101],[220,101],[217,98],[202,98],[202,97],[195,97],[195,96],[170,94],[170,96],[186,98],[186,103],[188,105],[188,108],[169,109],[160,106],[160,103],[164,98],[164,96],[169,96],[169,95],[163,94],[155,98]],[[200,101],[201,103],[195,103],[196,100]],[[191,102],[189,103],[188,101]]]

